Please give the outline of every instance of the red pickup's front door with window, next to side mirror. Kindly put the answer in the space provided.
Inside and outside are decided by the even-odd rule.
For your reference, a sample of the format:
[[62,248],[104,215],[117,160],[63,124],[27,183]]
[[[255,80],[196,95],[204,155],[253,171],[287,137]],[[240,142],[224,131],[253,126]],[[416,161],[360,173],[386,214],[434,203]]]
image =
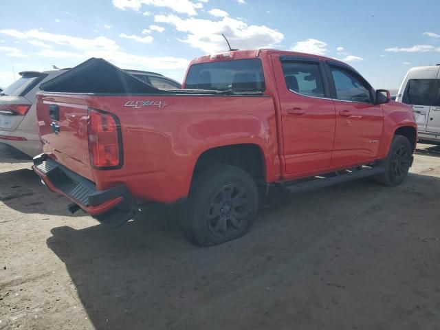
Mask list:
[[349,67],[329,65],[336,107],[332,166],[364,164],[375,159],[382,138],[384,113],[373,89]]

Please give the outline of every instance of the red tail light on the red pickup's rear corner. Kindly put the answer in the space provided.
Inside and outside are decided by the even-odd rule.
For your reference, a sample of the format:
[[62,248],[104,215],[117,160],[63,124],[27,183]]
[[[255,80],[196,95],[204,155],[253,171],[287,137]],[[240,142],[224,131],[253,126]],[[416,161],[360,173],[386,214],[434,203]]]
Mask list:
[[90,162],[94,168],[110,170],[122,167],[122,134],[118,117],[89,109],[87,122]]

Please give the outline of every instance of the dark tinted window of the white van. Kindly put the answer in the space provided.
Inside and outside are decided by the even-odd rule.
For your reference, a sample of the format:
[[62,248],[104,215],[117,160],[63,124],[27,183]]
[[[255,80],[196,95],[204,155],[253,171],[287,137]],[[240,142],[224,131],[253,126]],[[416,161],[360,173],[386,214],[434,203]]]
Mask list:
[[440,105],[440,80],[410,79],[401,102],[414,105]]

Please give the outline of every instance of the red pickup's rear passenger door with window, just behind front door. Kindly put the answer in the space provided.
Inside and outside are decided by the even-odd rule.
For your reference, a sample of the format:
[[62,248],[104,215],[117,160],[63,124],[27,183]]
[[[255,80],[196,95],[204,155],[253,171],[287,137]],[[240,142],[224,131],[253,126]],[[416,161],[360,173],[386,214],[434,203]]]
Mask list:
[[319,173],[331,164],[335,106],[318,59],[274,57],[281,104],[285,177]]

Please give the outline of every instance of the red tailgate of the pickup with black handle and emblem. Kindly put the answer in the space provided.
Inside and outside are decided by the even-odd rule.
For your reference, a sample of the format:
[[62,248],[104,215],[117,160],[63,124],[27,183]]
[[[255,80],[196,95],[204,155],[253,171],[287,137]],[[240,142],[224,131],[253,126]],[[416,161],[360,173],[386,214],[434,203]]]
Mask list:
[[37,96],[36,118],[43,152],[94,181],[87,141],[87,96]]

